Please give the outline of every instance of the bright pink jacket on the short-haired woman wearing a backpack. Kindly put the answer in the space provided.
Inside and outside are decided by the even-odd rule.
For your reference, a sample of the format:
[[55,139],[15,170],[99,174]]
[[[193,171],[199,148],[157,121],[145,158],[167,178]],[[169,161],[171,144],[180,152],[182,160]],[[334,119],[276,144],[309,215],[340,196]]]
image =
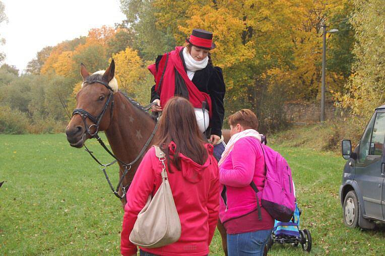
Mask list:
[[[265,160],[260,142],[253,137],[239,139],[219,169],[220,191],[222,192],[219,202],[219,218],[222,223],[244,216],[256,209],[255,192],[251,188],[250,182],[253,180],[258,190],[261,191],[265,177]],[[261,205],[260,194],[259,192],[258,198]],[[261,210],[265,211],[262,206]],[[263,215],[265,217],[262,221],[272,228],[274,225],[272,217],[269,214]]]

